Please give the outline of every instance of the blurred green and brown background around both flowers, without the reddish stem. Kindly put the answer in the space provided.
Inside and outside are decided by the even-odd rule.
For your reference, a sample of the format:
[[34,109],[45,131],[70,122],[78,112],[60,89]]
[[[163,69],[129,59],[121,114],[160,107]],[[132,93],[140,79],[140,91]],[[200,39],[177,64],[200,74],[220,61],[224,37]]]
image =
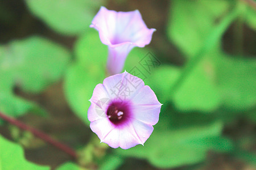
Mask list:
[[[163,103],[144,147],[110,148],[89,128],[88,99],[105,78],[108,56],[89,28],[101,6],[138,9],[157,30],[150,45],[131,51],[124,68],[136,66]],[[74,148],[79,158],[0,118],[0,164],[256,169],[255,29],[253,0],[1,0],[0,112]],[[147,54],[160,62],[150,71],[142,65]],[[18,150],[26,160],[11,154]]]

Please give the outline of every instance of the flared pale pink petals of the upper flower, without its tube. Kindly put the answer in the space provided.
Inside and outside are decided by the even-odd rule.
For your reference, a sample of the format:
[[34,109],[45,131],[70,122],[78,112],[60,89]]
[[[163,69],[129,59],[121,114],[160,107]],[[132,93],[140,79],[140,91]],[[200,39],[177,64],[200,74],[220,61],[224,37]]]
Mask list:
[[138,10],[117,12],[105,7],[100,8],[90,27],[97,29],[102,43],[112,48],[126,42],[143,47],[150,43],[155,31],[147,28]]

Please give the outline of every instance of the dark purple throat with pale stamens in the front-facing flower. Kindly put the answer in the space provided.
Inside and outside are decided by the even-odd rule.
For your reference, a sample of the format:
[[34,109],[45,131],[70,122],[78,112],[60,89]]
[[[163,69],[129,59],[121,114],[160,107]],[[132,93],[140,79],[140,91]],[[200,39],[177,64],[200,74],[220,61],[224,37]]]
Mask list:
[[129,115],[130,108],[128,103],[115,101],[108,107],[107,116],[114,125],[123,124],[128,120]]

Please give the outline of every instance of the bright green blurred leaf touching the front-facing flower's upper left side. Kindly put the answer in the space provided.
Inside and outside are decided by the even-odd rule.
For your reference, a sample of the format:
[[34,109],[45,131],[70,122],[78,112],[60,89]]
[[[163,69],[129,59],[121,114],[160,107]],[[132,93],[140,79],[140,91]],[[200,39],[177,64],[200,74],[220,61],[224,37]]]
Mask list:
[[67,71],[64,88],[68,103],[77,116],[88,125],[89,99],[92,97],[95,86],[103,80],[102,67],[97,65],[86,67],[80,63],[74,63]]

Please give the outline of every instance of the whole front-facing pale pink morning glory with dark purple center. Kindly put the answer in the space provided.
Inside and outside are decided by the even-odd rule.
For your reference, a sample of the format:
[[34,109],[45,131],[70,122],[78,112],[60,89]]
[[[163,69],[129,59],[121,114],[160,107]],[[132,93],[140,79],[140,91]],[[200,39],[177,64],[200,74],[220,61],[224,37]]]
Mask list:
[[142,79],[126,71],[97,84],[89,101],[90,129],[101,142],[123,149],[146,142],[162,106]]

